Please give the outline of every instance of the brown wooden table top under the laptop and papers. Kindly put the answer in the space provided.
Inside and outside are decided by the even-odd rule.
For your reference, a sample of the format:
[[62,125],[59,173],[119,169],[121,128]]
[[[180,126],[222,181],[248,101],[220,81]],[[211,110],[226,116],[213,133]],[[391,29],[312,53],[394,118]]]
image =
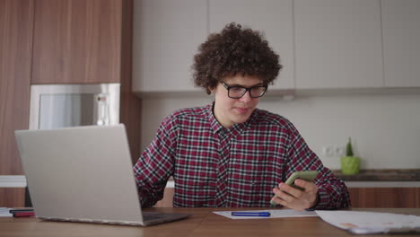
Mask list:
[[[241,208],[236,210],[255,210]],[[263,208],[267,209],[267,208]],[[354,236],[323,222],[319,217],[232,220],[213,211],[233,208],[148,208],[147,211],[190,213],[192,217],[149,227],[41,221],[34,217],[0,217],[0,236]],[[420,215],[420,208],[354,208],[376,212]],[[384,236],[384,235],[369,235]],[[407,236],[407,235],[385,235]]]

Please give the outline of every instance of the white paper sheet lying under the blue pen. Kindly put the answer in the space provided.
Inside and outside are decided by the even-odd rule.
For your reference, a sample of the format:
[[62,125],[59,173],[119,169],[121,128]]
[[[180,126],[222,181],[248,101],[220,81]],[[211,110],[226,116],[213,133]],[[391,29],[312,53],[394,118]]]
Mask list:
[[270,216],[237,216],[232,215],[232,211],[214,212],[217,215],[223,215],[231,219],[267,219],[267,218],[280,218],[280,217],[308,217],[318,216],[315,212],[311,211],[295,211],[293,209],[271,209],[271,210],[256,210],[247,212],[269,212]]

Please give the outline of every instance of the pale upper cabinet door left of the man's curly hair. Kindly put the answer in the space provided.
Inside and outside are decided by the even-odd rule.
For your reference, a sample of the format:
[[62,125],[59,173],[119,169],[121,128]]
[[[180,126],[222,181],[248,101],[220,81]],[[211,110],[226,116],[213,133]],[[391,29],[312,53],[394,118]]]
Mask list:
[[207,36],[206,0],[134,1],[133,90],[196,92],[193,57]]

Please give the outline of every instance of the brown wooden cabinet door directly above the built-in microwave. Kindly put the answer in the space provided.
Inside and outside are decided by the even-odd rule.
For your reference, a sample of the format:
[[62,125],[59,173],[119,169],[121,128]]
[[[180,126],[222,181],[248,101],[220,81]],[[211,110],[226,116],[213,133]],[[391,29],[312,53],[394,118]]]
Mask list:
[[120,0],[36,0],[31,83],[118,83]]

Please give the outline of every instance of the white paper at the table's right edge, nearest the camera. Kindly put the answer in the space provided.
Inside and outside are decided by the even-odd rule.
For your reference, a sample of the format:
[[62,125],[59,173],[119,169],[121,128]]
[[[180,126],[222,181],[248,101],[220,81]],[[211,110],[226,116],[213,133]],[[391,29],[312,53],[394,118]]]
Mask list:
[[359,211],[316,211],[328,224],[352,233],[420,233],[420,216]]

